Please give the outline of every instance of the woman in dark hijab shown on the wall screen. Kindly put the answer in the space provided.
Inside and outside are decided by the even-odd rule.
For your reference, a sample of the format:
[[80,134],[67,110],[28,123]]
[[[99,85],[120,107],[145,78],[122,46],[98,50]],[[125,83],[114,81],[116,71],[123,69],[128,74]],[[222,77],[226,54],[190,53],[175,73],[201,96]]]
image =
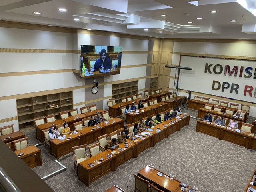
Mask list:
[[106,56],[107,56],[106,50],[102,49],[100,51],[100,58],[95,62],[94,67],[90,68],[90,71],[93,72],[93,71],[111,69],[110,60]]

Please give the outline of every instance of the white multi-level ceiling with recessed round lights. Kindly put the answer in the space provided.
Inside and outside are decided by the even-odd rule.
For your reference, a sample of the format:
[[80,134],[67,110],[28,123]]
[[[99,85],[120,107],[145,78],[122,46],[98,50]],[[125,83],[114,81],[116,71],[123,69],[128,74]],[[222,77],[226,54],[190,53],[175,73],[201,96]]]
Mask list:
[[256,39],[256,0],[1,0],[0,19],[159,38]]

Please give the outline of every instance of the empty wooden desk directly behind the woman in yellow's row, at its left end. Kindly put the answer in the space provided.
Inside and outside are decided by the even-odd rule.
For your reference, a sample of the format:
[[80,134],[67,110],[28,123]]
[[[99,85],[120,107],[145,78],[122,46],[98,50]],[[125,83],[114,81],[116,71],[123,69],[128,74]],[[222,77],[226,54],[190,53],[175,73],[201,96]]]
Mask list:
[[[57,125],[64,124],[64,120],[59,119],[54,122],[45,123],[42,125],[35,126],[36,127],[36,139],[41,143],[44,142],[44,132],[43,130],[50,129],[50,127],[55,128]],[[52,126],[52,124],[55,124]]]

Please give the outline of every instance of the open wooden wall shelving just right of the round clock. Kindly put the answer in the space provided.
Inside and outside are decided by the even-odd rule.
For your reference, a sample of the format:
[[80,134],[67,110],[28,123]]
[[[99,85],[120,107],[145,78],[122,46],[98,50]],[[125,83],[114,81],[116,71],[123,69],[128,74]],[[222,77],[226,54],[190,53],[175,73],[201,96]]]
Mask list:
[[115,98],[117,103],[121,102],[121,97],[131,96],[134,94],[138,94],[138,81],[112,85],[112,98]]

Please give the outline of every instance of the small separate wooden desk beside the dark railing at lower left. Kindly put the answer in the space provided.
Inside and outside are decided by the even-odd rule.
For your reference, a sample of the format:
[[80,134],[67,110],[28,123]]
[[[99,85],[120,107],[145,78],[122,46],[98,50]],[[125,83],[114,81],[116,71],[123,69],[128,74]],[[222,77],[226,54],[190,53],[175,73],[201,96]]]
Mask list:
[[36,166],[42,166],[42,156],[41,150],[36,146],[32,145],[26,147],[22,150],[14,151],[14,153],[18,156],[19,153],[24,153],[20,158],[28,165],[30,168]]

